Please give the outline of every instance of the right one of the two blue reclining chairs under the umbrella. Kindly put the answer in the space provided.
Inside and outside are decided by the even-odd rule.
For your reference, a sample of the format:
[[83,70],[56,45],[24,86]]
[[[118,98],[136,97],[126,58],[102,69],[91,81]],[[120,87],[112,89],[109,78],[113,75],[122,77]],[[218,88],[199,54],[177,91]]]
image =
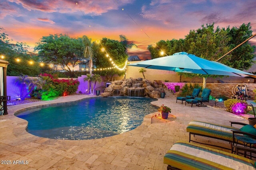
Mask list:
[[201,98],[186,99],[185,105],[189,103],[191,104],[191,107],[193,106],[193,104],[196,104],[196,106],[198,107],[206,107],[206,105],[204,105],[203,102],[209,102],[211,92],[212,91],[210,89],[204,88]]

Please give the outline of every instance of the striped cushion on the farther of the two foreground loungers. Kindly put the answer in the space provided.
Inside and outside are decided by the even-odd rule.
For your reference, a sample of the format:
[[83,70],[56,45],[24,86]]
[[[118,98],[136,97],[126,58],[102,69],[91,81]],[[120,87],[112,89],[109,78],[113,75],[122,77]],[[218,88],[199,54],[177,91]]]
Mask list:
[[218,125],[203,121],[190,121],[187,127],[187,132],[206,135],[209,137],[217,137],[228,141],[233,141],[232,130],[239,131],[236,127]]

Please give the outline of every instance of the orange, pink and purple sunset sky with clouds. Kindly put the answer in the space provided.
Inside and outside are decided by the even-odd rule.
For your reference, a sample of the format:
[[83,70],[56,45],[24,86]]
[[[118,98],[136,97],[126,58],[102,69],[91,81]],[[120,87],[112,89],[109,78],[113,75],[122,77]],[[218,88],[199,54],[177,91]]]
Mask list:
[[[184,38],[202,24],[239,27],[251,23],[256,33],[256,0],[1,0],[0,27],[13,43],[33,51],[49,34],[87,35],[92,41],[125,35],[138,48],[128,51],[148,59],[148,45]],[[256,45],[256,37],[250,40]],[[107,49],[106,49],[107,50]]]

